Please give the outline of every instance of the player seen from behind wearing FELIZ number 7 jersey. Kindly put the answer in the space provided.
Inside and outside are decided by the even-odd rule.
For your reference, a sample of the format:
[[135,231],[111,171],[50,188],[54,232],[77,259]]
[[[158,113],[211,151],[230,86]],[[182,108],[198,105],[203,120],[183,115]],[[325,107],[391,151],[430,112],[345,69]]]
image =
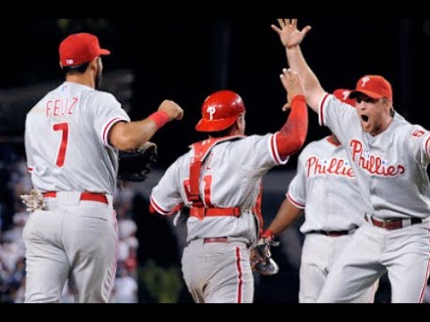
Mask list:
[[182,109],[164,101],[147,119],[130,122],[116,98],[97,90],[99,39],[70,35],[59,47],[65,81],[27,114],[25,151],[34,190],[23,231],[26,302],[57,302],[69,278],[77,302],[107,302],[116,271],[118,150],[140,147]]

